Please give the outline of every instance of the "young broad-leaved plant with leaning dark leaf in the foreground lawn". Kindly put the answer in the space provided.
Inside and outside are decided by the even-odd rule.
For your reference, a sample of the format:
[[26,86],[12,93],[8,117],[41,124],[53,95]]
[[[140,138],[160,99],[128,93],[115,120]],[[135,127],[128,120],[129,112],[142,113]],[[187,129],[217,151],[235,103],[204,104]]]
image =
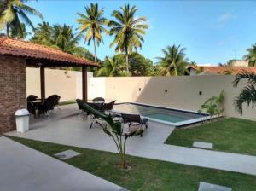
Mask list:
[[90,107],[86,103],[84,103],[83,107],[85,111],[92,113],[93,115],[96,116],[96,118],[101,118],[105,120],[109,124],[109,125],[106,124],[105,126],[102,124],[100,125],[102,125],[102,130],[104,131],[104,133],[106,133],[108,136],[110,136],[113,139],[113,142],[115,143],[118,149],[119,157],[121,159],[120,167],[122,169],[129,168],[129,165],[126,164],[125,162],[126,141],[131,136],[142,135],[143,130],[139,128],[137,130],[132,130],[128,133],[124,133],[123,124],[119,121],[113,121],[113,117],[110,114],[106,115],[105,113],[101,113],[96,109]]

